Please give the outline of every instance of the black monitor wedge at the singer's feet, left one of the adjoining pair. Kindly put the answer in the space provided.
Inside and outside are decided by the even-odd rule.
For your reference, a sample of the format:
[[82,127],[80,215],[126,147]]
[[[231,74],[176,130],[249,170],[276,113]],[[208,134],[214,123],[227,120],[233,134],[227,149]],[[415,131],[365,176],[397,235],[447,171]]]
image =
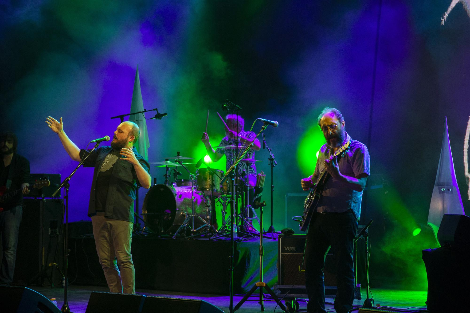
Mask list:
[[144,295],[93,291],[86,305],[86,313],[141,313],[144,299]]

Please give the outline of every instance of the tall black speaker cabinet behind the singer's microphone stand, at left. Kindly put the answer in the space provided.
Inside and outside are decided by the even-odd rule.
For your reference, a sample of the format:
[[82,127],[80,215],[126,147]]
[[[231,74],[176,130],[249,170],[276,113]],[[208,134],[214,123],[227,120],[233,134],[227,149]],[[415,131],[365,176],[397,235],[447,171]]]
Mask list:
[[[28,199],[23,202],[23,217],[16,248],[14,285],[44,284],[51,271],[31,281],[50,263],[63,264],[63,201],[62,199]],[[55,283],[61,275],[55,273]],[[53,283],[53,282],[50,282]]]

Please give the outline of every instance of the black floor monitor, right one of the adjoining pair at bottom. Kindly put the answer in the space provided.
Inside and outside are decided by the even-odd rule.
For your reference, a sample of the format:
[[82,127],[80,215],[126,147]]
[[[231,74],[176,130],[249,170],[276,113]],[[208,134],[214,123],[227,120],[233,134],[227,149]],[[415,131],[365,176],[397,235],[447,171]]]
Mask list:
[[142,313],[223,313],[217,306],[204,300],[147,296]]

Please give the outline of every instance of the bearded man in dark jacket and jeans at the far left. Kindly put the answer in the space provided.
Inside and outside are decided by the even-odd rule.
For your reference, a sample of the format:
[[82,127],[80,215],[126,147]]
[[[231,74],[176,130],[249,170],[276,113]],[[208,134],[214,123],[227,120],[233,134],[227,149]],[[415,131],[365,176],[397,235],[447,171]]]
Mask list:
[[0,285],[13,282],[15,272],[16,246],[18,231],[23,214],[23,195],[29,193],[30,164],[16,153],[18,140],[12,132],[0,133],[0,186],[2,194],[8,190],[23,189],[21,193],[0,203],[0,235],[2,238],[3,256],[0,265]]

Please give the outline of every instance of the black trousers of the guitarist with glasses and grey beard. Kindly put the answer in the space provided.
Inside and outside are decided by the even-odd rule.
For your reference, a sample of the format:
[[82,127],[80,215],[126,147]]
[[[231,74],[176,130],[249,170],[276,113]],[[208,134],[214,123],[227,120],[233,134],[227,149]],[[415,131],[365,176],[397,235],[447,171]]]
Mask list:
[[323,268],[331,248],[337,271],[335,310],[349,312],[354,299],[354,236],[358,222],[352,211],[344,213],[313,213],[305,243],[305,288],[309,313],[326,313]]

